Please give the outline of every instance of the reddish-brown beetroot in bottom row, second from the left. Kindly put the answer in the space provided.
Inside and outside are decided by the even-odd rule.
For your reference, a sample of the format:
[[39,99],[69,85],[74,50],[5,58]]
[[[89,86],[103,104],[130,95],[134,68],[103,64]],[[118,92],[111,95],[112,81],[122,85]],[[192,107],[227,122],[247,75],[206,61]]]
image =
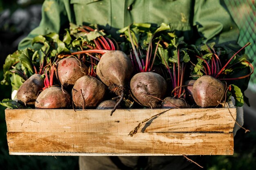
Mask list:
[[66,108],[70,106],[71,97],[61,87],[51,86],[38,95],[35,108]]

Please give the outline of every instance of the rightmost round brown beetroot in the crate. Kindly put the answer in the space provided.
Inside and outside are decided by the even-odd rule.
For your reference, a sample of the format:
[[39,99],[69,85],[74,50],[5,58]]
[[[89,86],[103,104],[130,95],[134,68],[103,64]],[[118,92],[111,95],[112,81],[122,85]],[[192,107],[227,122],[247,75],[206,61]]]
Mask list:
[[203,75],[195,81],[192,91],[198,106],[217,106],[224,98],[225,85],[212,76]]

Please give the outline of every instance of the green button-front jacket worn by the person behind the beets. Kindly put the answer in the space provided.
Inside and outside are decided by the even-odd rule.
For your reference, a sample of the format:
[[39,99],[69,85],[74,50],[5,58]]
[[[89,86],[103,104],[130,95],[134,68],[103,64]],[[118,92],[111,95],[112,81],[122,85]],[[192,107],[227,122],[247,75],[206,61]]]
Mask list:
[[98,24],[116,39],[116,31],[132,22],[168,23],[188,43],[237,44],[239,36],[223,0],[45,0],[40,25],[18,49],[31,46],[36,35],[60,33],[70,22]]

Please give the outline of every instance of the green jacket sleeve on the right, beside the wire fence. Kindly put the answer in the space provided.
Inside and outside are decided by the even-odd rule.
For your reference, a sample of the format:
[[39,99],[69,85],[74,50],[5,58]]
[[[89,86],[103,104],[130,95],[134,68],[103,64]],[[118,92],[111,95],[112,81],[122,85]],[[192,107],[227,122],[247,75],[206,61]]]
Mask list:
[[239,29],[223,0],[195,0],[193,26],[200,34],[199,42],[214,41],[218,45],[239,48],[235,46]]

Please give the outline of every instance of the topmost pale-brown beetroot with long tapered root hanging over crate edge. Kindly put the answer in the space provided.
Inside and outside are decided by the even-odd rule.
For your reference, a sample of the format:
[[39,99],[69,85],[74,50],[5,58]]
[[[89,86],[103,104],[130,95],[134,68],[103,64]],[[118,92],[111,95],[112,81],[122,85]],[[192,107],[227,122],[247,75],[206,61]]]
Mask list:
[[133,68],[130,58],[122,51],[109,51],[102,55],[96,69],[98,77],[108,86],[110,91],[119,95],[112,113],[124,98],[125,86],[132,77]]

